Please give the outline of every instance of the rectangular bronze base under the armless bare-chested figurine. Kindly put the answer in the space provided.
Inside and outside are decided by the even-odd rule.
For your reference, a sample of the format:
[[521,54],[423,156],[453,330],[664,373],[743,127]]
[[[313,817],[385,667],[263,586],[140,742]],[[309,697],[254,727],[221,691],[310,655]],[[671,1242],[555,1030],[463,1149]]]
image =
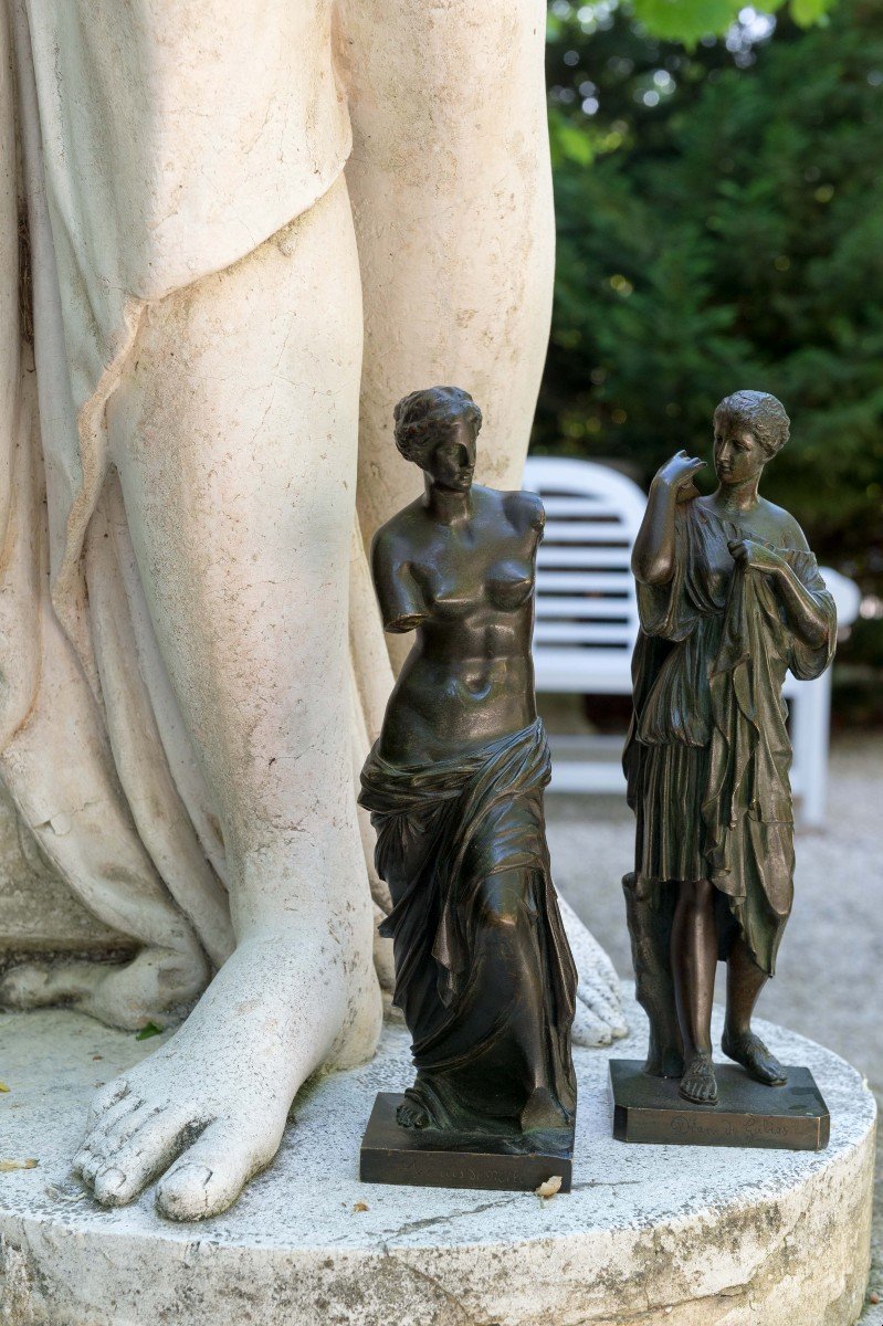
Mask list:
[[[570,1192],[573,1126],[534,1134],[530,1140],[402,1128],[395,1111],[404,1098],[381,1091],[362,1138],[363,1183],[410,1183],[420,1188],[485,1188],[533,1192],[553,1175]],[[534,1146],[538,1150],[528,1150]]]

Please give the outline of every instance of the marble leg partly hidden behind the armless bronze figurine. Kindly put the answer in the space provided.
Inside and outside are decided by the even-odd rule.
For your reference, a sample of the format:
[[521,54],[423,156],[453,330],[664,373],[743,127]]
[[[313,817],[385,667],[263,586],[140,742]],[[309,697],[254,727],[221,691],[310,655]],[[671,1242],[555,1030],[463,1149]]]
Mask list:
[[[416,387],[472,392],[485,418],[477,479],[521,485],[554,269],[545,5],[347,0],[342,24],[365,300],[358,513],[370,541],[419,492],[415,467],[392,463],[391,430],[392,404]],[[367,622],[373,607],[357,568],[351,614]],[[359,633],[354,654],[370,654],[378,676],[371,633],[379,623]],[[395,668],[410,640],[387,644]],[[387,693],[362,692],[371,740]],[[574,1040],[609,1044],[626,1030],[613,964],[566,903],[562,916],[579,969]]]

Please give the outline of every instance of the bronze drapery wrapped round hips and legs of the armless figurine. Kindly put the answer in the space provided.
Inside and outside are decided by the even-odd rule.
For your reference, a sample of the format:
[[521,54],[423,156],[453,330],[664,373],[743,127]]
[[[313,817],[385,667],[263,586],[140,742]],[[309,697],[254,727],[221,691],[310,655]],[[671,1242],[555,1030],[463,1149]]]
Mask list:
[[517,1131],[536,1085],[525,1037],[542,1042],[544,1085],[563,1114],[575,1107],[577,971],[545,841],[549,777],[540,720],[426,768],[391,765],[375,747],[362,770],[394,903],[381,932],[394,940],[394,1002],[414,1040],[410,1094],[439,1127]]

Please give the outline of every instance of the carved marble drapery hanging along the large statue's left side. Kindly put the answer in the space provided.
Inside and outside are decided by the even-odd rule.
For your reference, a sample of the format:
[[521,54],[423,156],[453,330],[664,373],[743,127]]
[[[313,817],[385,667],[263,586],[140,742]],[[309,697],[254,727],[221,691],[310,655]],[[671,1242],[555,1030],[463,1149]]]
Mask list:
[[[270,0],[257,21],[231,0],[187,16],[9,5],[17,106],[9,97],[1,127],[20,129],[33,350],[4,420],[4,496],[29,541],[0,568],[0,664],[16,679],[0,703],[0,761],[56,870],[146,945],[90,1002],[125,1025],[192,1000],[233,934],[217,798],[151,622],[107,411],[133,383],[151,306],[260,249],[339,179],[351,130],[331,13],[329,0]],[[15,170],[4,186],[15,207]],[[19,232],[9,225],[11,243]],[[15,252],[3,269],[15,305]]]

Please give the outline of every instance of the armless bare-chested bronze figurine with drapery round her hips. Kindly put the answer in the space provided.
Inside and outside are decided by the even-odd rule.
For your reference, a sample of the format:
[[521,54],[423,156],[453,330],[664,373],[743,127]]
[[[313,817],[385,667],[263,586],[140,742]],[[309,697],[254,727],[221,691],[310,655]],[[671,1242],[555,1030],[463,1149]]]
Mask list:
[[[457,387],[399,402],[395,440],[426,491],[371,548],[386,630],[416,633],[359,798],[392,896],[382,930],[416,1069],[396,1120],[399,1134],[434,1134],[436,1156],[481,1135],[488,1154],[552,1147],[566,1160],[577,972],[549,869],[530,658],[544,511],[532,493],[473,484],[480,424]],[[422,1170],[427,1147],[402,1144],[408,1181],[457,1181],[456,1166]],[[517,1164],[485,1172],[483,1187],[536,1185],[530,1166],[521,1179]],[[383,1179],[377,1166],[371,1177]]]

